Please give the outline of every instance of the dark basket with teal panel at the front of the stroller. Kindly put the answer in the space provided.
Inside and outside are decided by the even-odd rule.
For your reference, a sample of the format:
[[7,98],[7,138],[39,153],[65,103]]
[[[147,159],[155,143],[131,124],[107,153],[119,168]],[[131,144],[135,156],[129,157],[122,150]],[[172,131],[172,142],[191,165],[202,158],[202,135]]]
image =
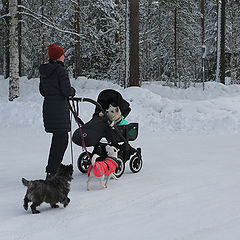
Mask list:
[[[138,136],[138,123],[130,123],[128,125],[117,126],[123,137],[127,141],[134,141]],[[117,142],[122,142],[121,138],[116,134]]]

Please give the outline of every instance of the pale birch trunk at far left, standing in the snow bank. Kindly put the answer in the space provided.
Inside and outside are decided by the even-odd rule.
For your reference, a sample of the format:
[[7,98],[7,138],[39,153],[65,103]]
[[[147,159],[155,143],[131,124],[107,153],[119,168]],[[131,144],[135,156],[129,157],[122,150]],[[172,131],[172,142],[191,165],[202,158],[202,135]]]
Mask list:
[[18,0],[9,0],[10,76],[9,101],[19,97]]

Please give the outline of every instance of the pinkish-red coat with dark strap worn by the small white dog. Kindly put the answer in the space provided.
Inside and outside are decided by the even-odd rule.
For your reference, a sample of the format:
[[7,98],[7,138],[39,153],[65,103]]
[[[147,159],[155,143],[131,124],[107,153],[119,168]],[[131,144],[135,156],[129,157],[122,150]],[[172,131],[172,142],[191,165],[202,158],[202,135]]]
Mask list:
[[111,173],[114,173],[117,167],[117,163],[111,159],[106,158],[105,160],[101,162],[95,162],[95,164],[88,168],[88,176],[90,175],[90,171],[93,168],[93,174],[96,177],[102,177],[103,175],[109,175]]

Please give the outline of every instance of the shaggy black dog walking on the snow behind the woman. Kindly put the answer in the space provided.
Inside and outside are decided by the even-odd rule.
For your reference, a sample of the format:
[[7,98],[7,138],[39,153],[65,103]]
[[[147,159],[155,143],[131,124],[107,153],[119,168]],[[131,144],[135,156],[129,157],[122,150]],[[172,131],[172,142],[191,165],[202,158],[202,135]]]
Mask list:
[[43,202],[49,203],[52,208],[58,208],[58,202],[66,207],[70,202],[68,193],[72,174],[72,164],[67,166],[61,164],[57,173],[49,179],[28,181],[22,178],[23,185],[28,188],[24,197],[24,209],[27,211],[29,202],[32,202],[30,207],[33,214],[40,213],[36,207]]

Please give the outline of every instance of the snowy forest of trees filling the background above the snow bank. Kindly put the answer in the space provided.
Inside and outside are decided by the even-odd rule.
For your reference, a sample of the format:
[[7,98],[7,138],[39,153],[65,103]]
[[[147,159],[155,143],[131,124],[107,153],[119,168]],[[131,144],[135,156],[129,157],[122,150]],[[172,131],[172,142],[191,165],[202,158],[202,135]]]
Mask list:
[[65,49],[74,78],[240,83],[238,0],[1,0],[0,14],[0,75],[10,92],[19,76],[39,77],[51,43]]

